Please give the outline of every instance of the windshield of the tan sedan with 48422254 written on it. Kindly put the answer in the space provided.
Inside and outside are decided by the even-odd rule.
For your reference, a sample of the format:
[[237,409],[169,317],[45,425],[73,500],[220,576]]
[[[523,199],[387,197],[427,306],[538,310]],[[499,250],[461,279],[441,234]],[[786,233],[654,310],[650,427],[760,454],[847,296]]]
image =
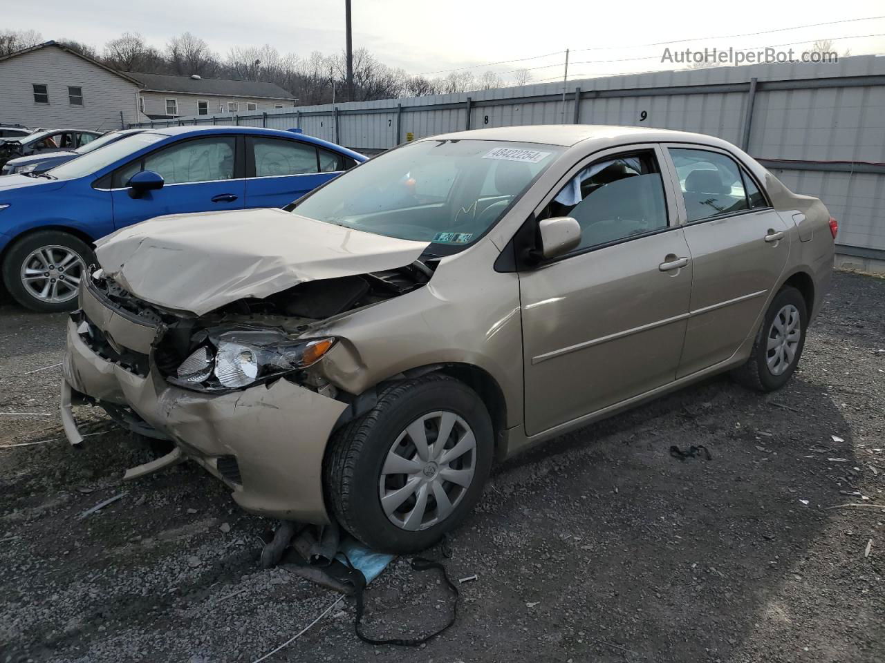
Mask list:
[[376,156],[288,209],[402,240],[464,246],[495,225],[563,149],[420,141]]

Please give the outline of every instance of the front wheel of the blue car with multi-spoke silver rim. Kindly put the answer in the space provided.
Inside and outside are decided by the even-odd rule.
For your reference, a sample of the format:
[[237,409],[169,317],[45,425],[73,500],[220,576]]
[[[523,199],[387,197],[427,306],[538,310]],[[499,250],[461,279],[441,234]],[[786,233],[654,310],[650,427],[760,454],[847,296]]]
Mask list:
[[69,232],[32,232],[6,254],[4,284],[27,309],[44,313],[73,310],[80,280],[92,260],[86,242]]

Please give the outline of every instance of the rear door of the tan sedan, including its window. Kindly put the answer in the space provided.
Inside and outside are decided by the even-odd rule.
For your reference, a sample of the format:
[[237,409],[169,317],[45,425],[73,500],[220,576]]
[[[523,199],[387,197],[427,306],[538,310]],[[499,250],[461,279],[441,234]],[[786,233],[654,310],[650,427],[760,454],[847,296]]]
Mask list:
[[684,377],[729,359],[756,328],[787,264],[789,228],[734,156],[677,144],[666,153],[693,264]]

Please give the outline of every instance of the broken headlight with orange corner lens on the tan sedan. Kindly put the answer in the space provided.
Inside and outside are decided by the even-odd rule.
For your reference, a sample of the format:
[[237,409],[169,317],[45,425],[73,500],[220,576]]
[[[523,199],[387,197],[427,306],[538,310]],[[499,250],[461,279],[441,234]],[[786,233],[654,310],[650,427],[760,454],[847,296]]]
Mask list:
[[[209,333],[175,371],[178,384],[238,389],[266,377],[306,369],[326,354],[335,339],[293,340],[282,331],[234,330]],[[206,384],[204,384],[206,383]]]

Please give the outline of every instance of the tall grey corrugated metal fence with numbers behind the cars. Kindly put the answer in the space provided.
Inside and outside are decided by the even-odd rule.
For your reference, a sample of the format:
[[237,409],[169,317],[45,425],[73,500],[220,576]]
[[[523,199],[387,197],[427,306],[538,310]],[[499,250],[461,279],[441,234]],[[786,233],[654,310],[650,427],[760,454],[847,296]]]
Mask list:
[[656,126],[718,136],[755,156],[840,221],[839,252],[885,261],[885,57],[652,72],[563,83],[132,126],[244,125],[366,152],[488,126]]

